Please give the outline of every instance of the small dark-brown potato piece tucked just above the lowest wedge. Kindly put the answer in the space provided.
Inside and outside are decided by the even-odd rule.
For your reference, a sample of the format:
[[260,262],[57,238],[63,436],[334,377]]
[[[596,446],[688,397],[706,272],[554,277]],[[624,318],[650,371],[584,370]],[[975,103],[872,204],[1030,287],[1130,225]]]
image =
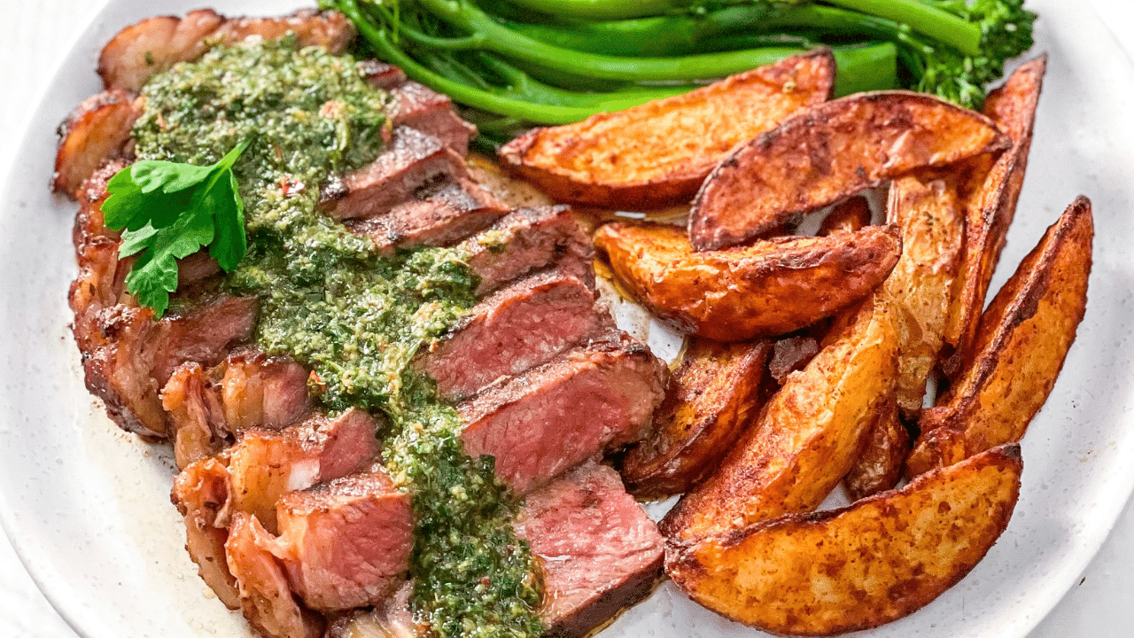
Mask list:
[[906,470],[909,431],[898,420],[898,402],[888,396],[879,402],[874,421],[858,457],[843,479],[855,501],[894,489]]

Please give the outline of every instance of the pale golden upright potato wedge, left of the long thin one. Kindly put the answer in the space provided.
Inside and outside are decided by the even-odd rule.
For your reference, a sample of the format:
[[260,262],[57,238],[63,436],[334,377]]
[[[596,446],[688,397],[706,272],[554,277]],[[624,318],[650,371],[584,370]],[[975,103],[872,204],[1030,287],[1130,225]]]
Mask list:
[[882,284],[900,339],[897,402],[903,413],[916,417],[945,343],[964,218],[956,190],[941,179],[895,179],[887,209],[887,221],[902,228],[902,258]]

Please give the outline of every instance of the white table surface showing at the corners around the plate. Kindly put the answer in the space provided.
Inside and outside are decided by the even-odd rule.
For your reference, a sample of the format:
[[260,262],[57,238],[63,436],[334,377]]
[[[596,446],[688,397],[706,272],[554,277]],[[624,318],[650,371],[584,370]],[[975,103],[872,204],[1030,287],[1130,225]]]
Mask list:
[[[104,0],[5,2],[0,20],[0,176],[56,65]],[[206,0],[202,0],[205,5]],[[1134,60],[1134,2],[1090,0]],[[1084,7],[1084,10],[1089,10]],[[93,72],[93,69],[92,69]],[[1134,116],[1134,114],[1132,114]],[[43,179],[45,176],[29,176]],[[46,187],[46,184],[44,184]],[[7,212],[7,211],[3,211]],[[0,291],[2,294],[2,291]],[[61,293],[60,293],[61,294]],[[0,397],[2,401],[2,397]],[[3,451],[0,451],[0,462]],[[1134,636],[1134,507],[1127,503],[1099,555],[1030,638]],[[154,610],[154,613],[163,613]],[[0,638],[75,638],[0,534]]]

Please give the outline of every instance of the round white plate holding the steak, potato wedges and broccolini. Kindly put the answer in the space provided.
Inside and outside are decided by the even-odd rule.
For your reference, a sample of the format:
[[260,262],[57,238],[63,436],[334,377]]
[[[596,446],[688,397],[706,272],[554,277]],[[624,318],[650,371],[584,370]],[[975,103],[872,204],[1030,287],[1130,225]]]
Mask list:
[[[0,193],[0,522],[46,596],[88,638],[245,636],[197,578],[169,504],[172,463],[118,431],[83,387],[67,324],[75,207],[53,199],[56,125],[100,89],[96,54],[121,26],[200,0],[113,0],[51,84]],[[1005,267],[1075,195],[1095,204],[1090,304],[1048,405],[1024,440],[1019,505],[988,557],[959,585],[879,637],[1023,637],[1106,538],[1134,487],[1134,68],[1082,3],[1034,0],[1038,50],[1051,56],[1035,143]],[[215,2],[278,14],[266,0]],[[662,587],[602,633],[761,636]]]

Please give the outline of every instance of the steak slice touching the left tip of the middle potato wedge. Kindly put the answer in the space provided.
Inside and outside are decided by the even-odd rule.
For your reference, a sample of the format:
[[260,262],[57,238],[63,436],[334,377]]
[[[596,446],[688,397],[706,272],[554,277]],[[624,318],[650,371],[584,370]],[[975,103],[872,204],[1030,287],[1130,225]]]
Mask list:
[[550,265],[594,287],[594,247],[567,207],[514,210],[462,246],[482,296]]

